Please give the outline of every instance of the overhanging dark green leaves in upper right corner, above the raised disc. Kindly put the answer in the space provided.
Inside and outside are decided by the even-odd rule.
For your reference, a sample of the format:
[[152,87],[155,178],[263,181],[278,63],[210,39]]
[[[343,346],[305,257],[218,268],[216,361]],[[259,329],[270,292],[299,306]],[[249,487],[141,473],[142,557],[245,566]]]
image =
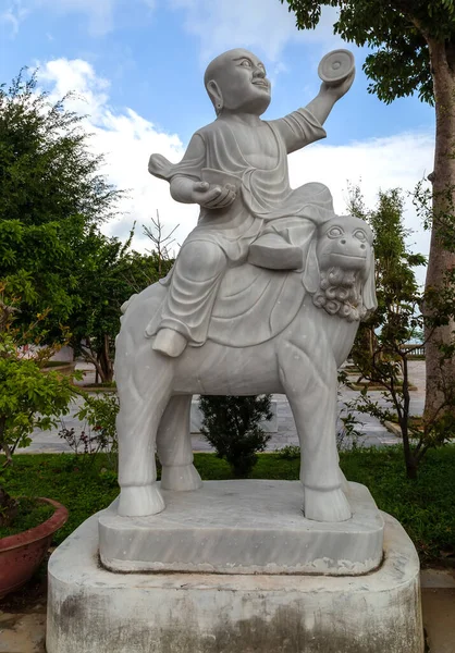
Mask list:
[[455,5],[452,0],[281,0],[287,2],[299,29],[313,29],[322,7],[337,9],[334,33],[357,46],[373,49],[364,64],[371,79],[369,91],[384,102],[418,93],[433,102],[429,39],[455,40]]

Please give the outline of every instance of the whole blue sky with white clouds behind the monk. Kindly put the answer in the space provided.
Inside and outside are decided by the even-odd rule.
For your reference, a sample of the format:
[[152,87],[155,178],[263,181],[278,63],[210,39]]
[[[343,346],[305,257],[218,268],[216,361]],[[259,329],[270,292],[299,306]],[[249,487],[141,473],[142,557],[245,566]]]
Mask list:
[[[343,212],[347,182],[361,181],[372,204],[380,187],[410,190],[431,172],[434,119],[417,98],[386,106],[369,95],[367,51],[334,37],[334,19],[328,10],[316,32],[299,33],[279,0],[0,0],[0,79],[39,65],[51,94],[76,90],[84,99],[73,108],[88,114],[106,173],[131,192],[110,233],[123,236],[158,209],[167,224],[180,224],[181,242],[197,211],[169,199],[165,183],[147,175],[147,159],[161,151],[177,160],[193,132],[213,120],[202,85],[210,59],[237,46],[259,54],[273,84],[266,118],[278,118],[315,97],[319,60],[347,47],[357,77],[325,123],[328,138],[291,158],[293,185],[327,183]],[[410,205],[407,220],[426,250]],[[139,227],[136,247],[144,246]]]

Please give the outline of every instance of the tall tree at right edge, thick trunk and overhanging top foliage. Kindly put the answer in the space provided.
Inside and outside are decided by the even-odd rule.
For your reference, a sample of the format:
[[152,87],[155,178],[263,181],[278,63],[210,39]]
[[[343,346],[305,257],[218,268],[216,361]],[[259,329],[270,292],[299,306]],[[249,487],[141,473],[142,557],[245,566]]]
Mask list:
[[[434,104],[435,152],[430,175],[432,233],[426,289],[429,296],[451,283],[455,267],[453,246],[455,202],[455,2],[453,0],[281,0],[296,15],[300,29],[312,29],[322,7],[334,7],[334,32],[346,41],[369,46],[364,70],[370,93],[392,102],[417,93]],[[448,229],[447,229],[448,227]],[[452,234],[450,243],[445,237]],[[431,303],[427,312],[432,311]],[[426,414],[431,417],[444,404],[443,387],[455,377],[455,360],[441,366],[441,345],[450,346],[454,320],[447,318],[428,331]]]

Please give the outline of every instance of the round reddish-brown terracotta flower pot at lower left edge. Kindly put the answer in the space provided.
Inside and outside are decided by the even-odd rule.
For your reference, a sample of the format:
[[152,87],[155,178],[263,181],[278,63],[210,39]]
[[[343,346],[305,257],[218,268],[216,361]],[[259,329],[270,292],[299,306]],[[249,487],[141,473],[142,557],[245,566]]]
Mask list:
[[42,562],[53,533],[67,519],[67,510],[51,498],[39,498],[56,507],[49,519],[16,535],[0,539],[0,599],[23,586]]

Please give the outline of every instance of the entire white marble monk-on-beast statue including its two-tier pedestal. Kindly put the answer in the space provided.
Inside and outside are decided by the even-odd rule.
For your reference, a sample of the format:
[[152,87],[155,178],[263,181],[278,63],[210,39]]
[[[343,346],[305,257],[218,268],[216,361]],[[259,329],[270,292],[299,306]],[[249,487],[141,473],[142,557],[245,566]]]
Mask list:
[[[221,54],[205,79],[214,122],[180,163],[150,158],[200,217],[168,278],[122,307],[121,492],[50,558],[49,653],[423,652],[417,552],[339,466],[336,372],[376,307],[373,238],[324,185],[290,187],[287,153],[325,135],[352,54],[318,73],[305,109],[262,121],[263,64]],[[261,393],[287,395],[300,482],[202,486],[193,395]]]

